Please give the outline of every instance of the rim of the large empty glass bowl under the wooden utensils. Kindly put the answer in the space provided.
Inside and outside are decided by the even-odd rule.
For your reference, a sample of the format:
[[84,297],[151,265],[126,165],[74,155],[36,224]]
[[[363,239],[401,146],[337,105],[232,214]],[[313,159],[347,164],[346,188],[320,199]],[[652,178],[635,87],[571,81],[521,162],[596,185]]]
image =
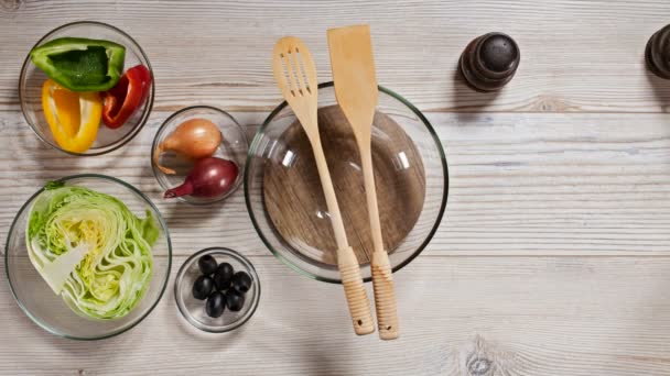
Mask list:
[[[318,84],[318,89],[325,89],[325,88],[329,88],[333,86],[334,86],[333,81],[322,82],[322,84]],[[440,153],[440,159],[442,163],[442,170],[443,170],[443,175],[444,175],[444,195],[442,195],[442,203],[440,204],[440,212],[437,213],[435,223],[433,224],[433,228],[429,232],[429,234],[425,237],[425,240],[423,241],[423,243],[421,243],[421,245],[417,248],[417,251],[414,251],[414,253],[412,253],[402,263],[400,263],[393,267],[392,272],[396,273],[396,272],[400,270],[401,268],[403,268],[409,263],[411,263],[417,256],[419,256],[419,254],[421,254],[421,252],[423,252],[425,246],[431,242],[431,240],[435,235],[435,232],[440,228],[440,223],[442,223],[442,218],[444,217],[444,211],[446,209],[446,200],[449,197],[449,168],[447,168],[446,155],[444,152],[444,147],[442,146],[442,142],[440,141],[437,133],[433,129],[433,125],[431,124],[431,122],[425,118],[425,115],[423,115],[423,113],[417,107],[414,107],[414,104],[412,104],[409,100],[404,99],[402,96],[398,95],[397,92],[395,92],[390,89],[387,89],[381,85],[378,85],[377,88],[379,89],[380,92],[383,92],[383,93],[397,99],[398,101],[400,101],[408,109],[410,109],[419,118],[419,120],[421,120],[421,122],[423,123],[423,125],[426,128],[426,130],[431,134],[431,136],[437,147],[437,151]],[[245,165],[245,168],[246,168],[245,169],[245,203],[247,206],[247,212],[249,213],[249,217],[251,218],[251,223],[253,224],[253,229],[256,230],[256,233],[260,236],[263,244],[266,244],[266,247],[268,247],[268,250],[270,250],[270,252],[272,252],[272,254],[277,258],[279,258],[282,263],[284,263],[285,265],[288,265],[290,268],[298,272],[299,274],[301,274],[305,277],[309,277],[311,279],[325,281],[325,283],[329,283],[329,284],[342,285],[341,279],[325,278],[325,277],[317,276],[315,274],[312,274],[307,270],[302,269],[300,267],[300,265],[291,262],[289,258],[284,257],[281,252],[279,252],[278,250],[272,247],[272,245],[270,244],[268,239],[263,235],[263,232],[260,230],[258,221],[256,220],[256,217],[253,215],[253,211],[251,210],[251,203],[250,203],[251,193],[249,192],[249,187],[248,187],[249,186],[248,185],[248,181],[249,181],[249,168],[248,167],[251,162],[251,158],[255,157],[253,151],[258,146],[260,135],[264,132],[266,128],[268,128],[268,125],[270,125],[270,123],[272,122],[274,117],[277,117],[277,114],[279,112],[281,112],[281,110],[283,110],[287,106],[288,106],[288,102],[284,100],[277,108],[274,108],[274,110],[272,110],[272,112],[270,112],[268,118],[266,118],[266,120],[263,121],[262,125],[258,129],[258,131],[256,131],[256,134],[253,135],[253,140],[251,141],[251,144],[249,145],[249,153],[247,154],[247,163]],[[364,278],[365,283],[368,283],[370,280],[372,280],[371,277]]]

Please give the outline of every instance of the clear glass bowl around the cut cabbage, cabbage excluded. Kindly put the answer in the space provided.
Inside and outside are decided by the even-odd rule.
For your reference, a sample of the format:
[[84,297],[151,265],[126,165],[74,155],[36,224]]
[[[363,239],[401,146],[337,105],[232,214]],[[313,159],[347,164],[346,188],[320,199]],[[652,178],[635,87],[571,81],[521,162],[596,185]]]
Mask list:
[[58,181],[111,195],[140,218],[144,218],[145,211],[154,215],[160,236],[152,248],[153,275],[149,288],[130,313],[114,320],[86,319],[73,311],[61,296],[56,296],[31,264],[25,246],[26,221],[35,198],[44,190],[42,188],[21,207],[7,236],[4,265],[12,294],[25,314],[53,334],[74,340],[101,340],[120,334],[149,316],[165,291],[172,263],[168,225],[151,200],[126,181],[93,174],[68,176]]

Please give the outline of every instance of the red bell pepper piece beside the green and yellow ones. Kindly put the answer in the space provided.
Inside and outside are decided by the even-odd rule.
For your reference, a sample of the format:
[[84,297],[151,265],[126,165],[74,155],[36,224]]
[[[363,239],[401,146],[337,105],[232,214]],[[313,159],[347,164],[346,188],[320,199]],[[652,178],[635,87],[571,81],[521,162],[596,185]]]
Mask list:
[[151,74],[143,65],[137,65],[126,71],[117,86],[104,93],[105,107],[102,122],[117,129],[130,119],[149,96]]

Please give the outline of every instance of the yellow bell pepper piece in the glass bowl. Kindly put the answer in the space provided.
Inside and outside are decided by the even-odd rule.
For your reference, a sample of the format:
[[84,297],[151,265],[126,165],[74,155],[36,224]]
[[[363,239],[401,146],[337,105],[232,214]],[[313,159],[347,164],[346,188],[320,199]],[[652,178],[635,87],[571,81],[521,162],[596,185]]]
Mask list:
[[44,117],[63,150],[84,153],[96,141],[102,99],[97,92],[74,92],[47,79],[42,86]]

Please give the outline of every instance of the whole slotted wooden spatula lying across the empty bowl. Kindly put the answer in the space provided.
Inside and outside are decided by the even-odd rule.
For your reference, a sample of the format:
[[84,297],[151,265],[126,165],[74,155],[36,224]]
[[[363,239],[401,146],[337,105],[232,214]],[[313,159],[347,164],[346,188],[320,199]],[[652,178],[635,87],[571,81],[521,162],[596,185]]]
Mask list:
[[375,331],[370,301],[363,286],[358,259],[354,250],[349,246],[342,223],[339,206],[318,135],[318,118],[316,115],[318,90],[314,59],[301,40],[287,36],[279,40],[274,45],[272,69],[284,99],[293,109],[312,144],[318,177],[321,178],[335,241],[337,242],[337,266],[349,306],[354,331],[358,335],[369,334]]

